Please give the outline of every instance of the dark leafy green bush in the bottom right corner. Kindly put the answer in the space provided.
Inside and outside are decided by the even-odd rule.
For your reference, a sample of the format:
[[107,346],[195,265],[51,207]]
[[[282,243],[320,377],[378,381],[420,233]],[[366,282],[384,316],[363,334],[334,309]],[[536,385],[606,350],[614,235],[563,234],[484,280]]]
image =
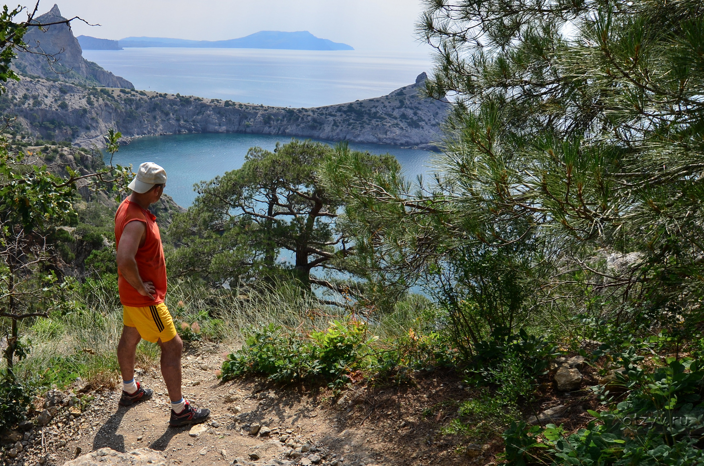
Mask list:
[[704,464],[704,365],[673,358],[646,372],[634,364],[639,358],[632,354],[622,358],[622,384],[631,388],[624,401],[601,413],[590,410],[595,420],[569,436],[553,424],[513,424],[503,434],[508,464]]

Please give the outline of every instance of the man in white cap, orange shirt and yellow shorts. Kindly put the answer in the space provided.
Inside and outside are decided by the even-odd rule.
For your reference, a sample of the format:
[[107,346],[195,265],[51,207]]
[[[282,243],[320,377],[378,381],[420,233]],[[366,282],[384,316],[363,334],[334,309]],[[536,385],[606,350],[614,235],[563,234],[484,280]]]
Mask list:
[[183,342],[176,334],[171,315],[164,304],[166,263],[156,217],[149,205],[161,198],[166,172],[153,162],[139,165],[130,183],[132,194],[115,213],[115,246],[118,250],[118,289],[122,303],[122,336],[118,362],[122,372],[120,405],[149,400],[151,389],[134,382],[134,353],[139,340],[161,347],[161,374],[171,398],[171,426],[205,422],[210,410],[194,408],[181,393],[181,351]]

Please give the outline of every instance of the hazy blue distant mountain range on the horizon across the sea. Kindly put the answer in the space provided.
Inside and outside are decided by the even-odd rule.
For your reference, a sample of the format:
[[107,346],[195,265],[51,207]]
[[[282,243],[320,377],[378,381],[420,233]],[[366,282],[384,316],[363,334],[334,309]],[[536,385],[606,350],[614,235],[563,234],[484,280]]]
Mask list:
[[188,40],[167,37],[125,37],[125,39],[99,39],[78,36],[83,50],[120,50],[125,47],[201,47],[218,49],[287,49],[287,50],[354,50],[352,46],[320,39],[308,31],[282,32],[259,31],[246,37],[229,40]]

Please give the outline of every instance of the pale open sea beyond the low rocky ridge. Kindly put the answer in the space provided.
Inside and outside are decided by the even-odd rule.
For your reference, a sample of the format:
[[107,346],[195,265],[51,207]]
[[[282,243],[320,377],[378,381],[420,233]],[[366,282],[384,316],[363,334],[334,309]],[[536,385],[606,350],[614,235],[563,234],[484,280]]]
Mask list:
[[266,49],[84,50],[137,89],[271,106],[315,107],[378,97],[428,72],[427,53]]

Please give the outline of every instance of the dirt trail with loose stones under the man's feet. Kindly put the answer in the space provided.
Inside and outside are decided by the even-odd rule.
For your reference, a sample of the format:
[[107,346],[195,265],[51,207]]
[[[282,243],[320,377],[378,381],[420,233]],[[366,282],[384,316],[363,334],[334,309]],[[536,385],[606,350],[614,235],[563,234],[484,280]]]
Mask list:
[[[169,460],[196,465],[460,465],[487,464],[487,453],[461,455],[439,428],[456,408],[442,415],[424,410],[468,393],[451,375],[432,374],[417,386],[367,391],[332,391],[298,386],[279,389],[264,380],[220,382],[215,377],[227,348],[191,346],[184,352],[184,396],[210,408],[207,430],[189,435],[190,427],[168,427],[168,396],[157,367],[138,370],[137,379],[154,390],[150,401],[118,406],[118,392],[94,397],[79,416],[59,408],[44,427],[30,431],[23,453],[8,465],[63,465],[77,454],[109,447],[116,451],[152,448]],[[73,408],[76,413],[76,408]],[[427,411],[425,412],[427,414]],[[251,435],[254,424],[260,432]],[[25,437],[27,437],[25,435]],[[31,438],[31,437],[30,437]],[[34,443],[32,443],[34,442]]]

